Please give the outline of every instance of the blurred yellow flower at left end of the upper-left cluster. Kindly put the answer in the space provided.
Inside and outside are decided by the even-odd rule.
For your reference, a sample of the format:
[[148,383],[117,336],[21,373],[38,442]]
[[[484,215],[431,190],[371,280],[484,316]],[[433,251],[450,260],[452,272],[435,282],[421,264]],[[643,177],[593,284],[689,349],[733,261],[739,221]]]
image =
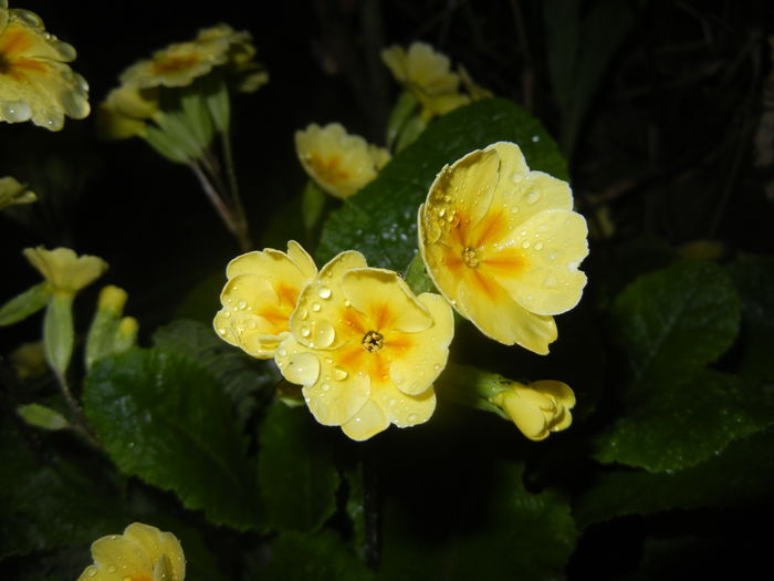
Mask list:
[[145,135],[147,121],[159,113],[157,87],[124,84],[112,90],[97,108],[97,132],[105,139]]

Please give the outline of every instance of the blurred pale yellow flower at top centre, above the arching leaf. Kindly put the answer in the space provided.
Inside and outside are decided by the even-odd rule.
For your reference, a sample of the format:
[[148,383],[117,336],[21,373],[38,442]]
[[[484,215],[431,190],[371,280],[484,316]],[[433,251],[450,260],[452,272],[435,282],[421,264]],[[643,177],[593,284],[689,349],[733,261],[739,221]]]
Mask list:
[[425,42],[412,42],[408,51],[393,45],[381,51],[381,60],[395,80],[421,103],[427,117],[470,102],[459,92],[460,76],[450,70],[449,58]]

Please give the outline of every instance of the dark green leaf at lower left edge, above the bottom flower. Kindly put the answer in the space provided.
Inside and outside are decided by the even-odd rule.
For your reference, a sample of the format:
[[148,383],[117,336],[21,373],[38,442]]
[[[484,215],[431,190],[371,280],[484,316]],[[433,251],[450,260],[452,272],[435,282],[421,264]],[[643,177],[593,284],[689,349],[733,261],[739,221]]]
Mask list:
[[1,418],[0,559],[123,530],[126,512],[108,479],[82,473],[51,449],[34,449],[29,439],[12,418]]

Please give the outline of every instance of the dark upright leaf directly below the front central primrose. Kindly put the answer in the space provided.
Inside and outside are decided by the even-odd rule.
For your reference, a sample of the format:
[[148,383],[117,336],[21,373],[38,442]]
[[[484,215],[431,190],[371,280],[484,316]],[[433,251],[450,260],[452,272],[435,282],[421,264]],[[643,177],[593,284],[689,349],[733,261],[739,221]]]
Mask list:
[[317,530],[336,510],[333,450],[305,406],[276,402],[263,421],[258,483],[270,526]]

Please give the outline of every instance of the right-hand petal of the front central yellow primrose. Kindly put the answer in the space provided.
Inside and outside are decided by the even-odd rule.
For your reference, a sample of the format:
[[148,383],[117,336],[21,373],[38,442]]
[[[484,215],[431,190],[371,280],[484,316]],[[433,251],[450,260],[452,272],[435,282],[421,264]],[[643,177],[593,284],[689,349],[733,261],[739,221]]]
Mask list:
[[[432,325],[411,335],[411,346],[395,356],[389,366],[390,380],[400,392],[408,395],[422,394],[432,386],[432,382],[446,367],[449,345],[454,336],[454,317],[449,303],[439,294],[430,292],[420,294],[418,300],[430,312]],[[412,413],[416,412],[404,413],[402,424],[399,425],[408,425],[406,418]],[[398,424],[394,421],[394,415],[389,417],[390,422]]]

